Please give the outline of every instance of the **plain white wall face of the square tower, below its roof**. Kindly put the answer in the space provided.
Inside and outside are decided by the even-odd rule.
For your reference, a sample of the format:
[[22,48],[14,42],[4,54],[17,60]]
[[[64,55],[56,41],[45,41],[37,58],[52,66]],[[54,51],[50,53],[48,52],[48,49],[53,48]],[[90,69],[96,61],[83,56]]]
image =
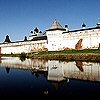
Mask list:
[[55,30],[55,31],[47,31],[47,39],[48,39],[48,51],[59,51],[63,49],[63,31]]

